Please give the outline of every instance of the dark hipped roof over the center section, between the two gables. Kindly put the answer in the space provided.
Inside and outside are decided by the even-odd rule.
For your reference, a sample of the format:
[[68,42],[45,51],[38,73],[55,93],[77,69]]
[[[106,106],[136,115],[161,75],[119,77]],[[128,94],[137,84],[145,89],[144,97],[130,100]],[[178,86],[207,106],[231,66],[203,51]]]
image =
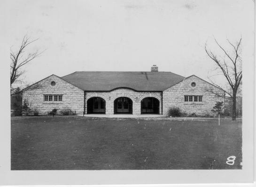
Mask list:
[[62,79],[85,91],[163,91],[185,77],[172,72],[74,72]]

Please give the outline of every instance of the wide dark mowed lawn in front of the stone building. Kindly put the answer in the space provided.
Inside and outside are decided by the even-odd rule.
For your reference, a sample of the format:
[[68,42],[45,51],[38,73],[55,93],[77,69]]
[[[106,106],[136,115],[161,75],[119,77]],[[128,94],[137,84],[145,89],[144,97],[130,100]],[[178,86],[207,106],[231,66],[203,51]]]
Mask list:
[[[13,117],[12,170],[241,169],[231,119]],[[234,165],[226,164],[235,156]]]

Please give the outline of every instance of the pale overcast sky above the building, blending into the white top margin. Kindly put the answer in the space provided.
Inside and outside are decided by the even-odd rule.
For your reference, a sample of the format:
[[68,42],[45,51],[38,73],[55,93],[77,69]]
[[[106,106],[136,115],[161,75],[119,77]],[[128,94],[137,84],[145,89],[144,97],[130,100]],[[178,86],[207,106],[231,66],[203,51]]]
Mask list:
[[[6,0],[0,12],[8,43],[45,50],[26,66],[33,83],[76,71],[159,71],[207,79],[213,62],[205,42],[224,46],[242,36],[243,59],[253,59],[253,0]],[[227,46],[226,46],[227,47]],[[247,49],[246,51],[244,49]],[[217,49],[216,49],[217,50]]]

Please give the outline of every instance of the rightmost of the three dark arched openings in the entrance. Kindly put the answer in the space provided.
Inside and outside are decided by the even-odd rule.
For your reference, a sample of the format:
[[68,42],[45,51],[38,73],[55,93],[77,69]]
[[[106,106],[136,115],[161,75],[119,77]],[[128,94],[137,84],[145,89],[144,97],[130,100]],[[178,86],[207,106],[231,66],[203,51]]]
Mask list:
[[159,114],[159,100],[155,97],[146,97],[141,100],[141,114]]

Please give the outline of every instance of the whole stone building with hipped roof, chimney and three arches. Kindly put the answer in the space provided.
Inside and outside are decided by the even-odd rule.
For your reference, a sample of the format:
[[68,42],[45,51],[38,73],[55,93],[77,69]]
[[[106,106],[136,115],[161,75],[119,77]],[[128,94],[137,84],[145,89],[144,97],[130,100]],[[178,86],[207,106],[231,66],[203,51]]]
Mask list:
[[[212,115],[213,92],[223,91],[192,75],[172,72],[74,72],[64,77],[51,75],[35,83],[37,89],[23,92],[32,110],[47,113],[71,109],[77,114],[160,114],[180,108],[187,115]],[[32,85],[31,85],[32,86]]]

